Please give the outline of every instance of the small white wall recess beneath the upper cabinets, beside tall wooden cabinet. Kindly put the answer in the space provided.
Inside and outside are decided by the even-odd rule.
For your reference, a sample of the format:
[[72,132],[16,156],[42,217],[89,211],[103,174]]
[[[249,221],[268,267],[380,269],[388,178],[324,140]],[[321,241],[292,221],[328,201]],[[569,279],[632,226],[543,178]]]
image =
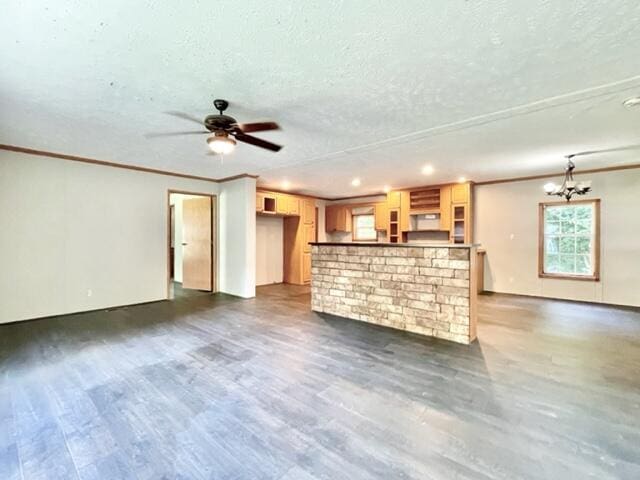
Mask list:
[[282,217],[256,215],[256,285],[282,283],[283,233]]

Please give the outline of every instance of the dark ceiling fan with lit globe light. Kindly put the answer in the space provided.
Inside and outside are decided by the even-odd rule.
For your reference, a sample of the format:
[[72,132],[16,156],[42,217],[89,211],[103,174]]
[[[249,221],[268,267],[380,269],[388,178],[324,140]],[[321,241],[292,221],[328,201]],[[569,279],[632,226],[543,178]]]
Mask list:
[[226,100],[216,99],[213,105],[218,110],[217,115],[207,115],[204,120],[182,112],[167,112],[174,117],[182,118],[190,122],[202,125],[206,130],[187,131],[187,132],[169,132],[169,133],[152,133],[145,135],[147,138],[154,137],[172,137],[178,135],[202,135],[212,134],[207,138],[209,148],[213,153],[227,154],[231,153],[236,146],[236,141],[248,143],[256,147],[265,148],[272,152],[279,151],[282,146],[268,142],[253,135],[247,135],[253,132],[264,132],[267,130],[278,130],[280,127],[275,122],[257,122],[257,123],[238,123],[235,118],[224,114],[229,107]]

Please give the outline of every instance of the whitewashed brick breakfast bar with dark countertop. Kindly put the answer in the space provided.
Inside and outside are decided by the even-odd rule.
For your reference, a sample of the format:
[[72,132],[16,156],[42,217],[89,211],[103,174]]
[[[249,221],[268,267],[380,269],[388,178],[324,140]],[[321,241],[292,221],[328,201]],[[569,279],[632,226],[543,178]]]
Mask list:
[[311,243],[311,309],[469,344],[476,245]]

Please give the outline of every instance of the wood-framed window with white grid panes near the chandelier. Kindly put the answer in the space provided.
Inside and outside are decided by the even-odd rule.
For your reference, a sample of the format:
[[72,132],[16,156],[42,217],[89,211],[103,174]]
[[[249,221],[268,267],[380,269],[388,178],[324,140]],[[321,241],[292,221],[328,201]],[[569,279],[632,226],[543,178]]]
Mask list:
[[598,280],[600,200],[540,204],[540,277]]

